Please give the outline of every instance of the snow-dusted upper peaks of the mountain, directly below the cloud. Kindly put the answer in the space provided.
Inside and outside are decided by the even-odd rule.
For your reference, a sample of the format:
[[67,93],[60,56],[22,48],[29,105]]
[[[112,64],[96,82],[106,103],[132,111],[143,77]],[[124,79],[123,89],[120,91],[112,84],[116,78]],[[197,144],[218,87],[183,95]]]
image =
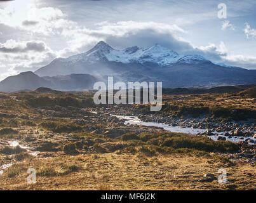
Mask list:
[[86,53],[82,53],[69,58],[58,58],[61,62],[76,63],[89,62],[95,63],[101,60],[108,60],[109,62],[121,62],[121,63],[156,63],[161,66],[170,65],[176,63],[180,58],[177,52],[172,51],[168,48],[164,48],[159,44],[156,44],[150,48],[138,48],[133,46],[123,50],[113,49],[108,44],[101,41],[94,48],[90,49]]

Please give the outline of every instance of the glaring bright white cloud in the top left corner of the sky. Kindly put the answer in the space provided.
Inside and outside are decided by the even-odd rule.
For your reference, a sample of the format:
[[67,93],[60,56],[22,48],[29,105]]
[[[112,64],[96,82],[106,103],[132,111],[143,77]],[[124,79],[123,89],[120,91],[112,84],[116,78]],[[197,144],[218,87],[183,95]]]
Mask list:
[[[15,1],[5,8],[0,8],[0,23],[16,29],[40,33],[44,35],[55,34],[66,26],[71,28],[76,23],[65,20],[66,16],[58,8],[37,8],[32,0]],[[68,25],[67,25],[68,24]],[[73,24],[73,25],[71,25]]]

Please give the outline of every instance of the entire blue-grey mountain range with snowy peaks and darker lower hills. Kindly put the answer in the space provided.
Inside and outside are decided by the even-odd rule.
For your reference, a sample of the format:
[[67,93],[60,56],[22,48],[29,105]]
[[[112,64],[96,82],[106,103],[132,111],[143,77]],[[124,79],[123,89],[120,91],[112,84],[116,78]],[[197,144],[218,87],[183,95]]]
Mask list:
[[[60,76],[65,75],[65,76]],[[159,44],[113,49],[100,41],[69,58],[57,58],[36,72],[25,72],[0,82],[0,91],[36,89],[91,89],[95,81],[162,81],[165,88],[256,84],[256,70],[215,64],[199,55],[180,55]]]

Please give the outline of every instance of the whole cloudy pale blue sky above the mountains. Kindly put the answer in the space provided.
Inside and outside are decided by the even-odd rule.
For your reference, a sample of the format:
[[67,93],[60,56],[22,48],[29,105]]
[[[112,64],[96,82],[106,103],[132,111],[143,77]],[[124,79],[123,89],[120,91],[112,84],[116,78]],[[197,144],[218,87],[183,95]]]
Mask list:
[[255,19],[255,0],[0,1],[0,80],[83,53],[98,41],[115,49],[160,44],[256,69]]

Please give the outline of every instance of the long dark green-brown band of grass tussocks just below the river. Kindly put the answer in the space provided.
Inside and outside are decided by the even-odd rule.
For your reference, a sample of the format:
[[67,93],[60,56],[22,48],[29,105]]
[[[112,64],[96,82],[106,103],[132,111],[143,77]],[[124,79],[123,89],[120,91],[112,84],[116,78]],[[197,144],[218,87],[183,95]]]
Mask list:
[[[199,155],[201,152],[238,152],[239,147],[230,141],[213,141],[206,136],[190,136],[182,133],[126,133],[120,138],[110,139],[100,135],[90,135],[83,141],[68,143],[64,147],[65,154],[78,154],[79,150],[99,154],[117,153],[144,153],[149,156],[156,154],[172,154],[188,152]],[[93,138],[94,136],[94,138]],[[79,138],[79,136],[77,136]],[[83,138],[83,135],[81,135]],[[93,148],[90,148],[90,147]],[[91,153],[91,152],[90,152]]]

